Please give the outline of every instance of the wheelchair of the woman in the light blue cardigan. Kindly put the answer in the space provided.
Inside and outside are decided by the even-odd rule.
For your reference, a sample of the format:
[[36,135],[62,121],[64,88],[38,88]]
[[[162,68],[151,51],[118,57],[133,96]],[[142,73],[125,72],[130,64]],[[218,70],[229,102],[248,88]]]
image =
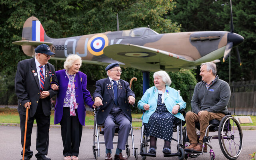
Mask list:
[[[179,111],[183,116],[185,116],[186,112],[184,109]],[[164,157],[172,157],[172,156],[178,156],[179,160],[183,160],[185,158],[185,151],[183,146],[183,129],[182,126],[185,125],[186,122],[180,120],[179,118],[176,118],[173,122],[173,132],[177,132],[177,139],[172,138],[172,140],[177,142],[177,152],[171,153],[171,154],[164,154]],[[156,157],[156,154],[147,153],[147,147],[149,147],[149,138],[144,134],[145,126],[142,123],[141,127],[141,136],[140,136],[140,156],[142,157],[142,160],[145,160],[147,156],[150,157]]]

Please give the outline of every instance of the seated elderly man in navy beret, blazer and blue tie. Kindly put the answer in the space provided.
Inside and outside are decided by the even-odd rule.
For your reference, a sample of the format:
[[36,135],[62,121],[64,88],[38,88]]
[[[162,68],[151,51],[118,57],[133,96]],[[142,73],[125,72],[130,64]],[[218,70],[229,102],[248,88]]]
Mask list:
[[130,89],[129,83],[120,79],[122,70],[118,63],[109,64],[105,70],[108,78],[96,82],[96,90],[93,94],[95,106],[100,107],[96,112],[97,123],[104,124],[105,160],[112,160],[115,123],[120,127],[114,158],[126,160],[127,157],[123,156],[122,150],[125,149],[131,129],[132,114],[129,104],[134,104],[135,94]]

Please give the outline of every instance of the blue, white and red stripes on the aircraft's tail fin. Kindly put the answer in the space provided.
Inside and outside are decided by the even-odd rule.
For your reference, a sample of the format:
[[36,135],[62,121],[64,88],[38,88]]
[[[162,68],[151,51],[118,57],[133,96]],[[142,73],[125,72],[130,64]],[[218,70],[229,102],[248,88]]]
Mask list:
[[39,20],[32,21],[32,40],[44,41],[44,28]]

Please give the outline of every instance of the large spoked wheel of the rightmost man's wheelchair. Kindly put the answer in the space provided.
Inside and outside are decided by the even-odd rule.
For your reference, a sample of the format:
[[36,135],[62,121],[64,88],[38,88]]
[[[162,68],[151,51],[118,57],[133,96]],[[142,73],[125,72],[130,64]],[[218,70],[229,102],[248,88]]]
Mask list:
[[243,148],[243,133],[238,121],[230,115],[220,121],[218,130],[220,149],[229,160],[238,158]]

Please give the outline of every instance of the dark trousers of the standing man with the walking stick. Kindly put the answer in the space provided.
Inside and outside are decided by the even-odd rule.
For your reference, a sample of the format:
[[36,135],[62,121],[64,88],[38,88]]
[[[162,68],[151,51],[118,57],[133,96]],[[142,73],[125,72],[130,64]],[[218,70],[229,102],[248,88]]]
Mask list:
[[[49,146],[49,128],[50,128],[50,116],[45,116],[42,110],[41,100],[38,101],[38,106],[36,109],[36,114],[33,117],[28,118],[27,124],[27,134],[26,134],[26,146],[25,146],[25,156],[32,157],[33,151],[30,150],[31,146],[31,133],[34,124],[34,120],[36,119],[36,150],[38,153],[36,157],[40,155],[48,154],[48,146]],[[21,136],[21,145],[23,148],[24,144],[24,132],[25,132],[25,122],[26,116],[20,114],[20,136]],[[23,154],[23,149],[21,151],[21,155]]]

